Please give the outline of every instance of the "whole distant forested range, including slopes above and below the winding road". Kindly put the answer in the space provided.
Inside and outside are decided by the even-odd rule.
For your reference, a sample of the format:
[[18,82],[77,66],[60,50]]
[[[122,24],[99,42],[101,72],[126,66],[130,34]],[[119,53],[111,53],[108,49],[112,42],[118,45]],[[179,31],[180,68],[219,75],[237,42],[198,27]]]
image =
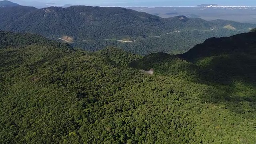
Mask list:
[[[254,27],[256,24],[227,20],[160,18],[119,7],[0,8],[1,30],[41,34],[53,40],[62,38],[61,42],[74,42],[70,43],[73,47],[88,51],[114,46],[141,55],[183,53],[208,38],[249,32]],[[136,41],[129,42],[133,40]]]

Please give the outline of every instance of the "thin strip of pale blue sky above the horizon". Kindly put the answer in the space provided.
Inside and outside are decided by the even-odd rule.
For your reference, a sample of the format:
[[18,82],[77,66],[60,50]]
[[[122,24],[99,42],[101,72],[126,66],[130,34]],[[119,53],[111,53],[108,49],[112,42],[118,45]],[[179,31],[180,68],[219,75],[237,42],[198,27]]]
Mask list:
[[22,5],[55,3],[91,6],[196,6],[219,4],[222,6],[256,6],[256,0],[10,0]]

